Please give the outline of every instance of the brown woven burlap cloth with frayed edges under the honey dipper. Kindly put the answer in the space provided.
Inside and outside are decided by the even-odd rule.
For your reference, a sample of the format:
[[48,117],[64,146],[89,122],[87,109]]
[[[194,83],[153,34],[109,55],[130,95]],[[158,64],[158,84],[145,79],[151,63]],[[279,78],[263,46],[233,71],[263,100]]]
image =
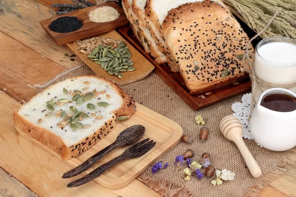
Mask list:
[[[82,74],[95,74],[85,65],[77,69],[68,70],[49,83],[37,86],[37,92],[49,85],[55,84],[69,77]],[[209,107],[193,111],[175,92],[168,87],[155,73],[149,74],[145,79],[128,85],[121,86],[133,98],[151,110],[162,114],[177,122],[184,134],[193,136],[192,144],[180,142],[160,160],[169,163],[169,167],[159,170],[152,175],[149,167],[138,179],[149,187],[158,191],[163,196],[196,196],[196,197],[237,197],[257,196],[260,190],[279,177],[287,170],[289,165],[296,161],[296,149],[286,152],[273,152],[260,148],[254,140],[245,139],[245,143],[258,162],[263,176],[259,179],[252,177],[236,145],[227,140],[220,131],[220,121],[223,117],[232,114],[233,102],[241,101],[241,95],[211,105]],[[206,119],[206,126],[210,129],[209,138],[205,142],[199,140],[199,130],[194,117],[200,114]],[[280,131],[279,131],[280,132]],[[185,181],[182,177],[183,170],[176,172],[174,165],[177,155],[191,148],[195,151],[196,160],[199,160],[205,152],[210,153],[212,165],[216,169],[229,169],[235,172],[234,181],[224,181],[222,185],[214,186],[211,178],[198,180],[191,177]],[[186,164],[184,164],[184,168]],[[203,172],[203,170],[202,170]]]

